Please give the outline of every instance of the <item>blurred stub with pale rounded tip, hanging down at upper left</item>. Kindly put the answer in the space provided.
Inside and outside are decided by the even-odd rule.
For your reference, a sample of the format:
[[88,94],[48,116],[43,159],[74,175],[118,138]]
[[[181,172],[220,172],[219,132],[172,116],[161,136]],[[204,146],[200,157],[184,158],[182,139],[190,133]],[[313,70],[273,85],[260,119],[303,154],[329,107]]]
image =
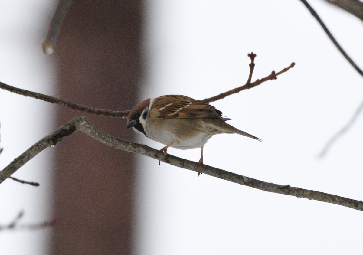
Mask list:
[[60,0],[57,10],[54,13],[52,22],[50,23],[48,35],[45,38],[43,46],[43,53],[46,55],[52,54],[54,51],[54,44],[58,38],[61,30],[62,23],[68,11],[68,8],[72,5],[73,0]]

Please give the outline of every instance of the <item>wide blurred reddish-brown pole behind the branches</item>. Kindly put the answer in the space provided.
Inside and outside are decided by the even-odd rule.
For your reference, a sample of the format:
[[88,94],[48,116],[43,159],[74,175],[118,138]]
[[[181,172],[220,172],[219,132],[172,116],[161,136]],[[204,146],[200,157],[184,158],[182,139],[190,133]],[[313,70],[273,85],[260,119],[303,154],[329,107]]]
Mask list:
[[[132,108],[140,80],[140,1],[73,1],[55,45],[58,97],[112,110]],[[75,110],[58,108],[58,126]],[[89,116],[132,140],[126,121]],[[53,254],[130,254],[134,155],[81,132],[56,146]]]

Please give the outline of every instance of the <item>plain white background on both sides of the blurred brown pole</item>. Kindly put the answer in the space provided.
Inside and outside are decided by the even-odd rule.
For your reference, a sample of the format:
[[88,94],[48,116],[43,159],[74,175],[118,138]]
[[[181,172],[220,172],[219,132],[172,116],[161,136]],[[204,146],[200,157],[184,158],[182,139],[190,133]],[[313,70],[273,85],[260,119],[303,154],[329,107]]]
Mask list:
[[[1,81],[56,94],[55,65],[41,51],[55,4],[0,1]],[[324,1],[311,4],[362,67],[362,22]],[[363,100],[362,77],[300,1],[159,0],[147,1],[144,13],[146,72],[140,100],[164,94],[203,99],[243,85],[251,51],[257,54],[253,81],[296,62],[276,81],[212,103],[232,118],[229,124],[264,142],[216,135],[205,146],[205,164],[362,200],[363,116],[325,158],[318,158]],[[54,130],[53,107],[1,92],[1,169]],[[38,126],[40,121],[44,125]],[[163,147],[141,135],[139,142]],[[193,161],[200,157],[200,149],[168,152]],[[21,223],[52,219],[50,153],[43,151],[15,174],[40,187],[11,180],[0,185],[0,224],[22,209]],[[361,249],[360,211],[139,159],[135,254],[349,254]],[[1,253],[48,254],[49,233],[1,231]]]

